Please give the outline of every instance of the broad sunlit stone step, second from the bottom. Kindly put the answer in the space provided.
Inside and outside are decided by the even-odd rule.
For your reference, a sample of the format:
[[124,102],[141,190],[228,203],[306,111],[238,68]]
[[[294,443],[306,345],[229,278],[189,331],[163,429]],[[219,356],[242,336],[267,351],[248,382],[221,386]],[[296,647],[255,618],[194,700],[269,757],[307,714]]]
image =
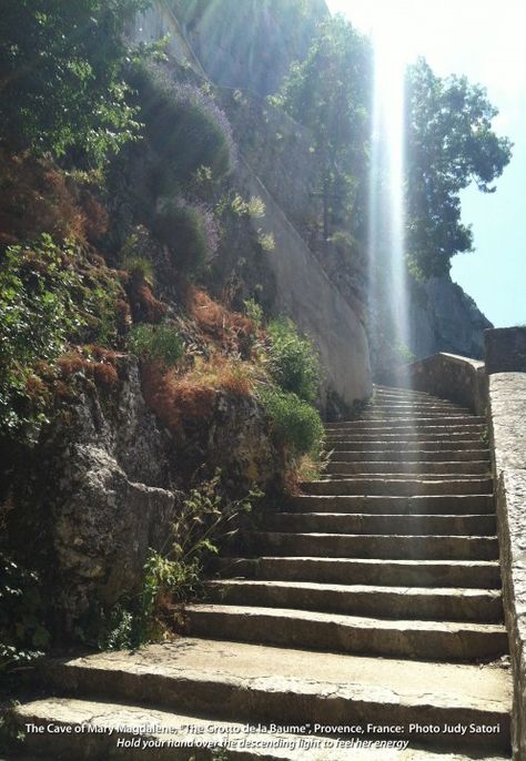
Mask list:
[[[266,612],[274,618],[280,615]],[[303,617],[307,623],[301,629],[308,631],[310,623],[315,629],[316,616],[327,618],[299,612],[297,620]],[[433,630],[429,623],[425,626]],[[489,633],[488,626],[478,625],[479,632]],[[465,630],[463,625],[448,625],[446,636],[458,627],[459,631]],[[471,627],[473,632],[477,630],[476,625]],[[457,638],[459,652],[463,641]],[[181,638],[133,652],[113,651],[59,661],[49,667],[47,680],[50,688],[62,694],[104,694],[108,701],[117,698],[119,702],[154,704],[214,720],[281,727],[311,724],[320,734],[334,734],[331,728],[336,726],[398,724],[399,737],[407,734],[412,747],[457,749],[464,743],[466,749],[478,747],[486,753],[490,747],[504,752],[509,747],[509,680],[503,669],[494,667],[328,652],[321,656],[290,648]],[[134,723],[132,717],[131,720]],[[484,737],[478,732],[458,737],[447,731],[431,734],[421,729],[432,723],[441,728],[485,724],[499,731]],[[253,757],[249,752],[246,758]]]

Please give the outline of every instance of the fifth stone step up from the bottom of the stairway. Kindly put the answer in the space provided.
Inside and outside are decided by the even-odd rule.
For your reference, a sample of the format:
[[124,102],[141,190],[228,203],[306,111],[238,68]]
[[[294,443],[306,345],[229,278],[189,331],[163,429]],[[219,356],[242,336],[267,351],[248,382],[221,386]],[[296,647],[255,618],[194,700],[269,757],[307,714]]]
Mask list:
[[381,560],[316,557],[219,558],[223,577],[320,584],[498,589],[497,560]]

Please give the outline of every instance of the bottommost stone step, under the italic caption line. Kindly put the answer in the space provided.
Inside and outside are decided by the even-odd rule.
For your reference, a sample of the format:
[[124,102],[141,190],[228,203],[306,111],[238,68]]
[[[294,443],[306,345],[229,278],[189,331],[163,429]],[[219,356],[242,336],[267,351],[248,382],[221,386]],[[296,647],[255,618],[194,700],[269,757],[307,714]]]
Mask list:
[[[235,722],[218,721],[196,716],[181,716],[171,711],[162,711],[154,708],[129,706],[127,703],[98,702],[77,700],[74,698],[48,698],[18,706],[12,712],[13,726],[23,731],[27,723],[42,727],[42,733],[32,733],[26,737],[26,745],[30,751],[39,753],[34,755],[16,755],[0,758],[0,761],[104,761],[115,758],[117,731],[121,726],[158,728],[152,733],[141,734],[139,740],[130,730],[119,734],[122,740],[130,744],[139,742],[138,748],[119,749],[117,758],[136,761],[144,757],[151,761],[189,761],[189,753],[193,759],[213,760],[216,753],[223,752],[224,758],[232,761],[348,761],[352,749],[353,761],[473,761],[482,759],[482,755],[451,755],[449,753],[415,749],[414,743],[409,748],[382,748],[380,745],[354,747],[357,740],[363,742],[370,737],[371,742],[377,740],[366,734],[344,734],[342,737],[327,737],[313,734],[311,728],[305,728],[301,735],[286,732],[269,732],[263,726],[247,727]],[[60,733],[47,732],[48,727],[60,726],[70,728],[70,731]],[[79,732],[78,728],[92,727],[93,731]],[[314,727],[314,726],[313,726]],[[113,732],[110,734],[110,730]],[[385,735],[382,735],[385,741]],[[154,747],[145,747],[142,751],[140,745],[144,741],[152,741]],[[367,740],[365,740],[367,742]],[[170,747],[169,743],[172,743]],[[174,747],[178,743],[183,747]],[[403,740],[405,745],[408,740]],[[198,748],[199,744],[199,748]],[[205,748],[203,748],[205,747]],[[42,757],[41,750],[47,750],[51,755]],[[199,754],[199,755],[198,755]],[[503,755],[484,754],[486,761],[505,761]]]

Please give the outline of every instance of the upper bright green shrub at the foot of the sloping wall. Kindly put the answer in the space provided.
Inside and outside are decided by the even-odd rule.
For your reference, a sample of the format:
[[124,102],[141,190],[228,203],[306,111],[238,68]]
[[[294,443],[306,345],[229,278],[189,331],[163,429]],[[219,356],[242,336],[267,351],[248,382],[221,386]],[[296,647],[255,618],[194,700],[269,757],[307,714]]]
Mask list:
[[320,362],[310,338],[299,335],[287,318],[273,319],[269,325],[271,346],[269,369],[275,383],[305,402],[314,402],[320,385]]

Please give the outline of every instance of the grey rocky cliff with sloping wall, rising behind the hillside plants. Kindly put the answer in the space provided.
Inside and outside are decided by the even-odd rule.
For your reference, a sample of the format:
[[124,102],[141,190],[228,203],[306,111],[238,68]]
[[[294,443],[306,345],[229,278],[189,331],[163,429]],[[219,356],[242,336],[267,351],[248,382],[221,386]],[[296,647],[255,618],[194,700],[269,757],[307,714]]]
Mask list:
[[[256,295],[269,313],[291,316],[320,352],[325,371],[321,405],[337,412],[371,393],[363,293],[361,301],[352,287],[338,287],[313,244],[320,201],[311,192],[318,185],[320,165],[308,130],[262,99],[305,54],[326,6],[266,0],[243,4],[241,14],[233,2],[222,2],[221,12],[214,3],[183,6],[159,0],[132,33],[144,41],[170,34],[173,60],[212,84],[240,152],[232,185],[265,204],[263,220],[226,230],[209,285],[235,282],[234,305]],[[272,236],[272,251],[259,244],[261,235]]]

